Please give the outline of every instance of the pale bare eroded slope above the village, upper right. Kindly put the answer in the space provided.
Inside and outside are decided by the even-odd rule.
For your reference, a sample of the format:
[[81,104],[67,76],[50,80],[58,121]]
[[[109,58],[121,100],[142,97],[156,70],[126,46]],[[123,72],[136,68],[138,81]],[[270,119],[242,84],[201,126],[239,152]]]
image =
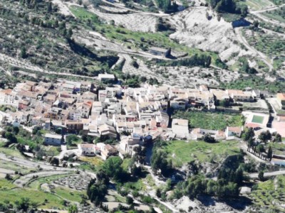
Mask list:
[[[228,59],[232,53],[240,53],[242,50],[235,42],[236,35],[232,24],[218,18],[217,13],[206,7],[187,9],[172,16],[172,24],[177,31],[170,38],[195,46],[202,50],[211,50],[219,53],[222,60]],[[247,54],[242,51],[242,55]]]

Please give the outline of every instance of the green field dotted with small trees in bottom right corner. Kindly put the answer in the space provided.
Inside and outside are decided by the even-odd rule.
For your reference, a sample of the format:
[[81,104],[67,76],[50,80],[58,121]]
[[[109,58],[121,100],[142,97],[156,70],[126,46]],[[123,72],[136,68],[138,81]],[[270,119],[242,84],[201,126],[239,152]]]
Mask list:
[[[276,180],[259,182],[250,198],[257,207],[271,209],[271,212],[285,212],[281,204],[285,202],[285,176],[277,176]],[[274,204],[273,204],[274,202]]]

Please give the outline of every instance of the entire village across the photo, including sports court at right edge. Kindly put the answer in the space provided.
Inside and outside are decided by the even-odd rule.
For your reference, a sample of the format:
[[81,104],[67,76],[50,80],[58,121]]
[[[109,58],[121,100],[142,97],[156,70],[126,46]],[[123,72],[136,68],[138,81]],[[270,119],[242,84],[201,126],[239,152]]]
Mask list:
[[[21,126],[30,132],[43,129],[44,144],[61,147],[63,155],[68,153],[68,135],[103,138],[100,143],[78,144],[73,154],[99,155],[104,160],[110,155],[132,156],[135,148],[157,138],[203,140],[209,135],[217,141],[239,140],[248,128],[254,129],[257,140],[264,131],[285,136],[285,116],[279,113],[284,109],[285,94],[255,89],[212,89],[207,85],[180,89],[144,84],[126,88],[110,83],[114,81],[113,75],[103,74],[96,83],[26,81],[16,84],[14,89],[2,89],[1,104],[16,110],[1,111],[1,126]],[[106,87],[101,89],[104,82]],[[172,111],[189,110],[239,113],[244,117],[244,125],[190,129],[186,118],[172,118]],[[113,143],[105,144],[108,139]]]

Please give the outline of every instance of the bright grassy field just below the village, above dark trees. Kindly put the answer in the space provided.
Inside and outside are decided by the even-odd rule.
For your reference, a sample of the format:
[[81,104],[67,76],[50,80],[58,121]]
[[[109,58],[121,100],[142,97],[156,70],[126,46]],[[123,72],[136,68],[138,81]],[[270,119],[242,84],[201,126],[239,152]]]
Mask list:
[[228,155],[239,153],[237,141],[226,141],[219,143],[206,143],[204,141],[167,141],[167,145],[162,149],[167,151],[175,166],[182,166],[183,163],[192,160],[199,162],[219,162]]

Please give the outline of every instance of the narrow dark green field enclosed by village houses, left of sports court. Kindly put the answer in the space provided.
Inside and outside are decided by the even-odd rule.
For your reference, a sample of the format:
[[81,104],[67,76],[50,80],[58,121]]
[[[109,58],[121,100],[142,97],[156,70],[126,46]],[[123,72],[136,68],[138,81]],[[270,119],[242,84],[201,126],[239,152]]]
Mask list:
[[243,117],[241,114],[177,111],[173,118],[188,119],[191,128],[222,130],[226,129],[227,126],[243,125]]

